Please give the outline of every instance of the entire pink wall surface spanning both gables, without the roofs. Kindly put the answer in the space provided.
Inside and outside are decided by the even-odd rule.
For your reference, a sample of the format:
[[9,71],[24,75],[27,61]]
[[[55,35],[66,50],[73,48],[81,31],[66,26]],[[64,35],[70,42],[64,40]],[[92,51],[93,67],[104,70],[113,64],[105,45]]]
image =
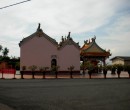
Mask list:
[[74,66],[75,71],[80,70],[80,51],[74,45],[66,45],[60,50],[44,37],[33,37],[21,45],[20,67],[47,66],[51,68],[52,55],[56,55],[60,71],[68,71],[69,66]]

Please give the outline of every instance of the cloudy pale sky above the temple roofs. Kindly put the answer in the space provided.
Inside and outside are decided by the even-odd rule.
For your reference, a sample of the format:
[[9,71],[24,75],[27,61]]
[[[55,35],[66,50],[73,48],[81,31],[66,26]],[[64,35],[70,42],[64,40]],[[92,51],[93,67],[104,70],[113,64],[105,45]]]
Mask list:
[[[0,8],[24,0],[1,0]],[[130,56],[130,0],[31,0],[0,9],[0,45],[20,56],[19,42],[41,28],[60,42],[71,37],[82,47],[96,36],[112,57]]]

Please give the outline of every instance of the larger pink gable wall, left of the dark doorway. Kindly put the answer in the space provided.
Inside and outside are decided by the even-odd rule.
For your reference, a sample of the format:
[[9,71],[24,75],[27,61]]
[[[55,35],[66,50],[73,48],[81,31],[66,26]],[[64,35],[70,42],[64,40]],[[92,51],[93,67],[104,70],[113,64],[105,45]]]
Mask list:
[[51,55],[57,54],[57,47],[44,37],[33,37],[21,46],[20,66],[36,65],[51,67]]

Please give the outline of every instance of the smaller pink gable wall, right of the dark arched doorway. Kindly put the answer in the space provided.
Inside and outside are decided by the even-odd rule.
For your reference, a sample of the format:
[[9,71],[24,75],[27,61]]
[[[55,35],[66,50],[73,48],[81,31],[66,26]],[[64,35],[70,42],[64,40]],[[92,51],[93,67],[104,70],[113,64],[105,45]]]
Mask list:
[[80,51],[74,45],[66,45],[59,51],[60,70],[68,71],[69,66],[74,66],[75,71],[80,70]]

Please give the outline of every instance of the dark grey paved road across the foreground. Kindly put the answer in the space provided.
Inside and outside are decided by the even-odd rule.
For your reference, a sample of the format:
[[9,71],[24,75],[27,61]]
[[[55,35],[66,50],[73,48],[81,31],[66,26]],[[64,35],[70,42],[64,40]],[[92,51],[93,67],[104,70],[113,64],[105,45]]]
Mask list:
[[130,79],[0,79],[0,110],[130,110]]

